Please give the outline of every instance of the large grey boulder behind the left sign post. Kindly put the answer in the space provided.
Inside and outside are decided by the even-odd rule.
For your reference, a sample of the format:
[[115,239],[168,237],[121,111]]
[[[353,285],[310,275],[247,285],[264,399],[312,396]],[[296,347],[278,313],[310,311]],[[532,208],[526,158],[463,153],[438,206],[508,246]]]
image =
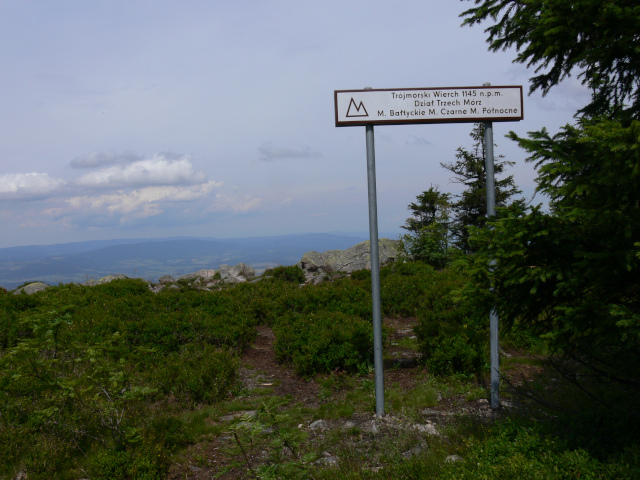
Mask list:
[[[378,240],[380,265],[384,265],[395,259],[399,251],[398,240],[381,238]],[[371,248],[369,241],[359,243],[347,250],[329,250],[324,253],[307,252],[298,263],[306,272],[322,271],[353,272],[364,268],[371,268]]]

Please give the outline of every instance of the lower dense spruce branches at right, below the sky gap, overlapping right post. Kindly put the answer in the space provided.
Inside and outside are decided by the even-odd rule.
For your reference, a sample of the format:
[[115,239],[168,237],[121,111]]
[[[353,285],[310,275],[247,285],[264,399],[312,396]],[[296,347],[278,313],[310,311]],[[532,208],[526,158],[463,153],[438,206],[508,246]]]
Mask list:
[[640,368],[629,358],[640,355],[640,122],[583,119],[554,137],[517,140],[539,166],[552,211],[512,208],[493,231],[476,232],[468,296],[486,311],[497,305],[505,325],[544,336],[590,375],[637,389]]

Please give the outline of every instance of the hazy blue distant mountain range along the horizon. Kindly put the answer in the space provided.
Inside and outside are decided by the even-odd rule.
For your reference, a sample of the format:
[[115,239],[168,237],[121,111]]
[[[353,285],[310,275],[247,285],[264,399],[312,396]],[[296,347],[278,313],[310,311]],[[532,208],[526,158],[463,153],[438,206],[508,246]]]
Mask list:
[[310,250],[344,250],[368,239],[366,233],[310,233],[226,239],[99,240],[0,248],[0,286],[14,289],[33,280],[53,285],[82,283],[118,273],[156,281],[162,275],[179,276],[240,262],[261,270],[293,265]]

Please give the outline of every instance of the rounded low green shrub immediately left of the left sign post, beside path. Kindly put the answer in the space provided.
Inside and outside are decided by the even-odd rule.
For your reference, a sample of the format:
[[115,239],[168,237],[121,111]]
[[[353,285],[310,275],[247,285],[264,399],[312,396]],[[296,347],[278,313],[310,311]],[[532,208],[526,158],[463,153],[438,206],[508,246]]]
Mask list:
[[291,314],[274,327],[276,358],[292,362],[299,375],[341,369],[357,371],[373,358],[370,322],[340,312]]

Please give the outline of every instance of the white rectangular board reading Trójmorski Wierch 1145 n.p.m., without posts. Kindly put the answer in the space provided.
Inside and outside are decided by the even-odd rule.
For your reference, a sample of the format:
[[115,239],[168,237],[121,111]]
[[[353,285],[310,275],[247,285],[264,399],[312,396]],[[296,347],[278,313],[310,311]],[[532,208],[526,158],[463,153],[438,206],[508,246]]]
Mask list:
[[336,90],[334,102],[336,127],[524,118],[520,85]]

